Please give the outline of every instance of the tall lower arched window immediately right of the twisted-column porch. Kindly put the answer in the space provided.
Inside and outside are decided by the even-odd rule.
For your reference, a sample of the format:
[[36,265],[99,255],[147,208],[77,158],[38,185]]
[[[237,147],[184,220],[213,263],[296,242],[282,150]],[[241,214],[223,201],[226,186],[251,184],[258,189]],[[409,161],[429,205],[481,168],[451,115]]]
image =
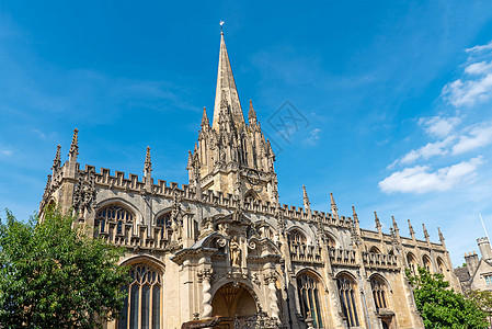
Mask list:
[[321,317],[319,281],[309,274],[297,277],[297,291],[299,293],[300,311],[306,319],[308,315],[314,320],[314,328],[323,328]]

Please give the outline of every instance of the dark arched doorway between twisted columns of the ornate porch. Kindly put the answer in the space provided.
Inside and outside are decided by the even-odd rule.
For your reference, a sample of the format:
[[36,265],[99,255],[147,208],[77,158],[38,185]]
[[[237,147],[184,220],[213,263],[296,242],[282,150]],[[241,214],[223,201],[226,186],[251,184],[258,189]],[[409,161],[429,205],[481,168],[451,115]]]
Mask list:
[[220,328],[225,329],[232,329],[234,321],[241,325],[258,313],[251,290],[240,283],[222,285],[211,299],[211,308],[213,316],[221,317]]

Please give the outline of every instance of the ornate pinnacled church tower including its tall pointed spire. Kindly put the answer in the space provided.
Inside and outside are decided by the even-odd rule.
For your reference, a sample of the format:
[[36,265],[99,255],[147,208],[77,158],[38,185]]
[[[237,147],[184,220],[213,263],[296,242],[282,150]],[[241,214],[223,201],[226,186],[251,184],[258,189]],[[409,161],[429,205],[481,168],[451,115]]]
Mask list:
[[219,67],[213,123],[204,109],[198,143],[190,151],[190,185],[202,191],[232,194],[244,201],[252,198],[278,202],[275,155],[262,133],[256,112],[250,101],[248,123],[244,121],[238,89],[220,32]]

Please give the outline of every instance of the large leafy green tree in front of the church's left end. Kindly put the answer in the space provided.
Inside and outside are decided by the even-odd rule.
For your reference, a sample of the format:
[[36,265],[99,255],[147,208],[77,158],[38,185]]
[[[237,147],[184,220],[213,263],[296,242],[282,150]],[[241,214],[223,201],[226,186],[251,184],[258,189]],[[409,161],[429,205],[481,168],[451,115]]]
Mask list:
[[73,217],[48,209],[42,222],[0,219],[0,328],[98,328],[123,307],[123,250]]

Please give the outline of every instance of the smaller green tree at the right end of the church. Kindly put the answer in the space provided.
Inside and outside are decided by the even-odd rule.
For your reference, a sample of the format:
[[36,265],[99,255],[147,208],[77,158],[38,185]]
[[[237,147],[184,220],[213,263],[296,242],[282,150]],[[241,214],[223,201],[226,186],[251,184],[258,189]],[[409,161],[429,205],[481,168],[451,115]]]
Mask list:
[[443,274],[431,274],[419,268],[419,275],[411,275],[410,271],[407,275],[425,328],[488,328],[487,315],[473,302],[448,288]]

